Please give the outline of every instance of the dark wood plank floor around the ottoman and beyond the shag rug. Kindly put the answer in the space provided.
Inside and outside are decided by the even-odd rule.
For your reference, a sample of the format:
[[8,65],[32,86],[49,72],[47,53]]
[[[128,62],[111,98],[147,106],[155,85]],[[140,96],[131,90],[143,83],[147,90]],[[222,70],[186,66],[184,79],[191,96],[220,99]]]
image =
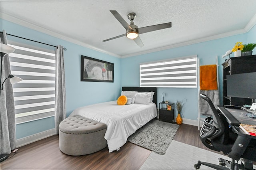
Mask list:
[[[174,139],[207,149],[199,139],[197,127],[182,124]],[[22,146],[17,154],[0,163],[0,169],[140,169],[150,150],[126,142],[119,151],[109,153],[108,148],[84,156],[68,156],[59,150],[58,135]]]

